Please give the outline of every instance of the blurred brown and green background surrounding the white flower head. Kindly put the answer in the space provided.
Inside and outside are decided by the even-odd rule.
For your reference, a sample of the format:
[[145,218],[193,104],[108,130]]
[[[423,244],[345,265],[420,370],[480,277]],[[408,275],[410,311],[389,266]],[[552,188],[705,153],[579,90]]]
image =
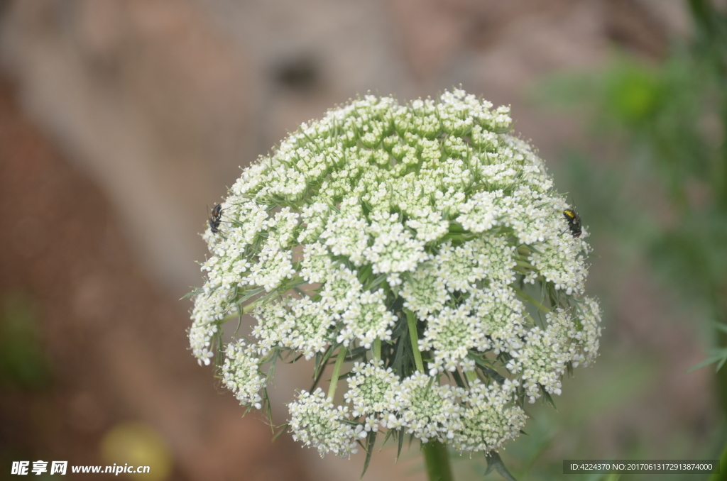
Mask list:
[[[572,198],[605,312],[598,362],[557,411],[532,406],[507,466],[559,480],[564,458],[718,458],[726,5],[0,1],[0,479],[39,459],[148,464],[149,481],[358,479],[361,456],[321,460],[242,418],[188,352],[178,299],[203,282],[198,233],[239,166],[356,94],[459,84],[512,105]],[[298,382],[278,379],[274,407]],[[415,449],[394,456],[365,479],[424,479]],[[457,458],[457,480],[485,466]]]

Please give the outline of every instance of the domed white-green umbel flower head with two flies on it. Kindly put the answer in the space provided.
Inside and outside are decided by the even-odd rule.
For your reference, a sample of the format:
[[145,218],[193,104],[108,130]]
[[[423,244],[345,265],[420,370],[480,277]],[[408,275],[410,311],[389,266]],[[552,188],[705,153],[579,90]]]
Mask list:
[[[587,233],[569,230],[511,124],[459,89],[407,105],[367,95],[302,124],[242,171],[204,233],[193,354],[257,409],[278,360],[314,360],[288,424],[321,455],[382,431],[501,448],[523,404],[560,395],[601,335]],[[248,312],[249,339],[225,347],[222,323]]]

